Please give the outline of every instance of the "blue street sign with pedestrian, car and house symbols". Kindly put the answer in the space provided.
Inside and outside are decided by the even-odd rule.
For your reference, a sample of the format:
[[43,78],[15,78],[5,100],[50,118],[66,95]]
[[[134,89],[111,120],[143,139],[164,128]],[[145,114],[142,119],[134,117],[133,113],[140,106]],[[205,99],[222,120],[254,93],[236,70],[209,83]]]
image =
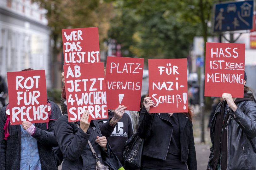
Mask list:
[[253,28],[253,1],[215,4],[213,32]]

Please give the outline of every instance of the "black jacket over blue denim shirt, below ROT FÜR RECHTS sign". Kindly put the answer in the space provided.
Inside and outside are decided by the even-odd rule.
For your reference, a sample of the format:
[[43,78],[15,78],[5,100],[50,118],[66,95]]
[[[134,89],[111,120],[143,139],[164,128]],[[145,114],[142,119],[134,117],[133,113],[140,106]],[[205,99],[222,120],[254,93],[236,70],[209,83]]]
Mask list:
[[[55,129],[55,121],[58,119],[60,108],[49,101],[51,104],[51,116],[46,128],[46,123],[36,123],[36,131],[32,135],[38,144],[38,153],[40,157],[42,170],[58,169],[53,146],[58,146],[56,138],[53,134]],[[0,170],[19,170],[20,169],[20,146],[21,146],[21,127],[20,125],[10,125],[9,137],[4,139],[3,127],[6,122],[5,114],[6,106],[0,111]]]

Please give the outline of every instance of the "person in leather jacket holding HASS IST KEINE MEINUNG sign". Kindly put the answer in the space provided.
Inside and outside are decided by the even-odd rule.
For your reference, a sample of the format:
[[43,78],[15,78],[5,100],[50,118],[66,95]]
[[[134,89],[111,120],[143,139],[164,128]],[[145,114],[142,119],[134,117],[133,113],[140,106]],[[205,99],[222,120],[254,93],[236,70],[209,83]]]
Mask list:
[[212,141],[207,169],[256,169],[256,100],[244,72],[243,98],[223,93],[210,126]]

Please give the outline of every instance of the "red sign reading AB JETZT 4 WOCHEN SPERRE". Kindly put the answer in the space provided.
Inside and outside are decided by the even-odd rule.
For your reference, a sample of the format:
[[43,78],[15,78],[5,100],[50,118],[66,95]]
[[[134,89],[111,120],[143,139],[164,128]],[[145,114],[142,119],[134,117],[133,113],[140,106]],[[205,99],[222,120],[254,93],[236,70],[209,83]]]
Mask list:
[[81,119],[89,110],[91,120],[107,119],[104,65],[102,62],[64,67],[68,121]]

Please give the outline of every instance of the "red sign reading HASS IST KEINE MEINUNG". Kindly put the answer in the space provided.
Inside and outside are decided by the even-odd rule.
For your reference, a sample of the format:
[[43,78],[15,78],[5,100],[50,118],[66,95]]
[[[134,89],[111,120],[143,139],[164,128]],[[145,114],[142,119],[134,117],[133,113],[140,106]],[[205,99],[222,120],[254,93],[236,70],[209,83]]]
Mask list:
[[245,44],[206,43],[205,96],[243,98]]

